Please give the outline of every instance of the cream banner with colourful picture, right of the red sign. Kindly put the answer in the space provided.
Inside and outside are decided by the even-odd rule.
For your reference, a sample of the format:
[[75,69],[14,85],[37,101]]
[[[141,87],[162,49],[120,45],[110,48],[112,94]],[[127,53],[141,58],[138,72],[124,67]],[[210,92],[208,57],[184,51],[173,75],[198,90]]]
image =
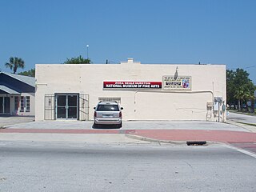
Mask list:
[[163,90],[191,90],[190,76],[162,76]]

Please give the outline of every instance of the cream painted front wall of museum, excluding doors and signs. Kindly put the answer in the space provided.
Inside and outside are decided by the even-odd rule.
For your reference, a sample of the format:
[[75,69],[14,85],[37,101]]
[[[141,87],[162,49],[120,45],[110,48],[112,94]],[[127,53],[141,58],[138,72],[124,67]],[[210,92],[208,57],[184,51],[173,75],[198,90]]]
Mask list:
[[[191,91],[103,90],[103,81],[162,81],[163,75],[191,76]],[[121,98],[125,120],[210,120],[218,117],[206,102],[222,97],[226,102],[225,65],[37,64],[36,121],[44,119],[45,94],[90,94],[90,119],[99,97]],[[208,118],[206,116],[208,115]],[[226,119],[224,113],[222,118]],[[221,118],[221,119],[222,119]]]

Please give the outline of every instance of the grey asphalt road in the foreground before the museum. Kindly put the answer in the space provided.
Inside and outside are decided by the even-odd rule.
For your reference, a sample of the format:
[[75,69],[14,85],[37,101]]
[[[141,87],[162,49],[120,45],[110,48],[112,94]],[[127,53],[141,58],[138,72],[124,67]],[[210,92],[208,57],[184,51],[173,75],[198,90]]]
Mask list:
[[0,142],[0,191],[256,191],[256,159],[226,146]]

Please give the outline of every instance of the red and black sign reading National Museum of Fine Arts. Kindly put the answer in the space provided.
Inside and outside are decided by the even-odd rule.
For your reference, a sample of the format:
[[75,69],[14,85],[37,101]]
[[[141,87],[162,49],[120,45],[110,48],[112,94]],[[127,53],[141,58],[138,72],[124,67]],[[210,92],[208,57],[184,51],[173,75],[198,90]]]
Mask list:
[[103,82],[104,89],[133,89],[158,90],[162,89],[162,82]]

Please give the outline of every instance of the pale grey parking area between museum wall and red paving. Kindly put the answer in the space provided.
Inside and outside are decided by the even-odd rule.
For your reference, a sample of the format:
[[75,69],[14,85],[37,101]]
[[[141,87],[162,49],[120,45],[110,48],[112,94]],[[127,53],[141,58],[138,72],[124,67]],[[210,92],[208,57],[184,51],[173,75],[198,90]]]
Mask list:
[[[23,119],[22,119],[23,120]],[[29,119],[27,119],[29,121]],[[81,121],[41,121],[22,122],[12,121],[9,129],[68,129],[68,130],[92,130],[93,122]],[[234,130],[249,131],[239,126],[234,126],[222,122],[199,122],[199,121],[128,121],[123,122],[121,130]],[[111,126],[104,126],[102,129],[110,129]],[[94,129],[97,130],[97,129]]]

